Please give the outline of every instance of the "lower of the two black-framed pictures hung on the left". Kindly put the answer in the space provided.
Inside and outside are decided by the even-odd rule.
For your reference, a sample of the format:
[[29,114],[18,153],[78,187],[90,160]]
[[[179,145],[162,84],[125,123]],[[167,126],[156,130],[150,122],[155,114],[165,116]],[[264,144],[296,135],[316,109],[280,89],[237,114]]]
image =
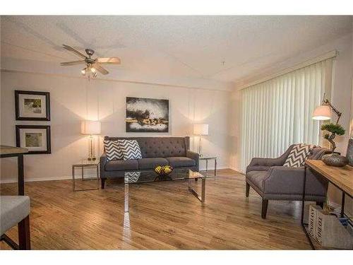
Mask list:
[[16,125],[16,146],[28,148],[28,154],[51,153],[49,125]]

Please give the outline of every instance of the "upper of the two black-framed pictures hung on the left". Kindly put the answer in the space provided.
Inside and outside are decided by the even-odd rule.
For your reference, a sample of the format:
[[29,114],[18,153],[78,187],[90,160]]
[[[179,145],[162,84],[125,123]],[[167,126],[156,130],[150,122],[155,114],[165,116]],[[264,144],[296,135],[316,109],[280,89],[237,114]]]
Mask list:
[[16,120],[50,121],[49,92],[15,90]]

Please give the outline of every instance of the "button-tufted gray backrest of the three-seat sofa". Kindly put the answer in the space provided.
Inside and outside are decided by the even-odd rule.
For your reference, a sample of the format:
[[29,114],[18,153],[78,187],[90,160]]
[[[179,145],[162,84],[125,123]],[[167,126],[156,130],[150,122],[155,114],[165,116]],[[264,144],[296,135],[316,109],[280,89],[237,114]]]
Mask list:
[[189,150],[190,137],[109,137],[104,140],[131,139],[138,141],[143,158],[169,158],[186,156]]

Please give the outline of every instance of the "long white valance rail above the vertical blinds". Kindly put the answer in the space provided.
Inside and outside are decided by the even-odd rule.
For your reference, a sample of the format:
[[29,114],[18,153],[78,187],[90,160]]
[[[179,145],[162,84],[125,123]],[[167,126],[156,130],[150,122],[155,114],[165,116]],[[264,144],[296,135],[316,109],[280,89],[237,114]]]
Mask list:
[[311,64],[316,64],[319,61],[324,61],[324,60],[327,60],[327,59],[330,59],[330,58],[334,58],[334,57],[337,56],[337,54],[338,54],[337,50],[334,49],[333,51],[326,52],[325,54],[322,54],[322,55],[320,55],[318,57],[306,60],[306,61],[301,62],[299,64],[294,64],[294,66],[290,66],[290,67],[288,67],[286,69],[283,69],[282,71],[274,73],[274,74],[272,74],[270,76],[266,76],[265,78],[260,78],[260,79],[258,79],[256,81],[252,81],[250,83],[246,83],[245,85],[241,85],[239,87],[236,87],[236,89],[237,90],[242,90],[244,88],[249,88],[250,86],[255,86],[255,85],[259,84],[259,83],[263,83],[265,81],[269,81],[269,80],[271,80],[273,78],[276,78],[278,76],[282,76],[282,75],[284,75],[286,73],[290,73],[292,71],[299,70],[299,69],[304,68],[306,66],[309,66]]

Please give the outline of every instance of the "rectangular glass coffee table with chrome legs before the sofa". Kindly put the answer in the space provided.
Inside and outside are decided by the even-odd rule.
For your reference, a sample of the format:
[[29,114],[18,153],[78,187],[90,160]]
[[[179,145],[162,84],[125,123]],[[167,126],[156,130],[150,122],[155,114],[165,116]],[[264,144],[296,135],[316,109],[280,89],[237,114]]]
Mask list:
[[[205,203],[205,186],[206,178],[199,172],[194,172],[192,170],[175,169],[169,175],[165,177],[160,177],[154,171],[133,171],[125,173],[125,213],[128,212],[128,186],[131,184],[142,184],[148,182],[164,182],[164,181],[178,181],[178,180],[189,180],[189,191],[191,194],[196,196],[196,198],[201,201],[202,204]],[[191,187],[192,179],[202,179],[201,183],[201,196]]]

